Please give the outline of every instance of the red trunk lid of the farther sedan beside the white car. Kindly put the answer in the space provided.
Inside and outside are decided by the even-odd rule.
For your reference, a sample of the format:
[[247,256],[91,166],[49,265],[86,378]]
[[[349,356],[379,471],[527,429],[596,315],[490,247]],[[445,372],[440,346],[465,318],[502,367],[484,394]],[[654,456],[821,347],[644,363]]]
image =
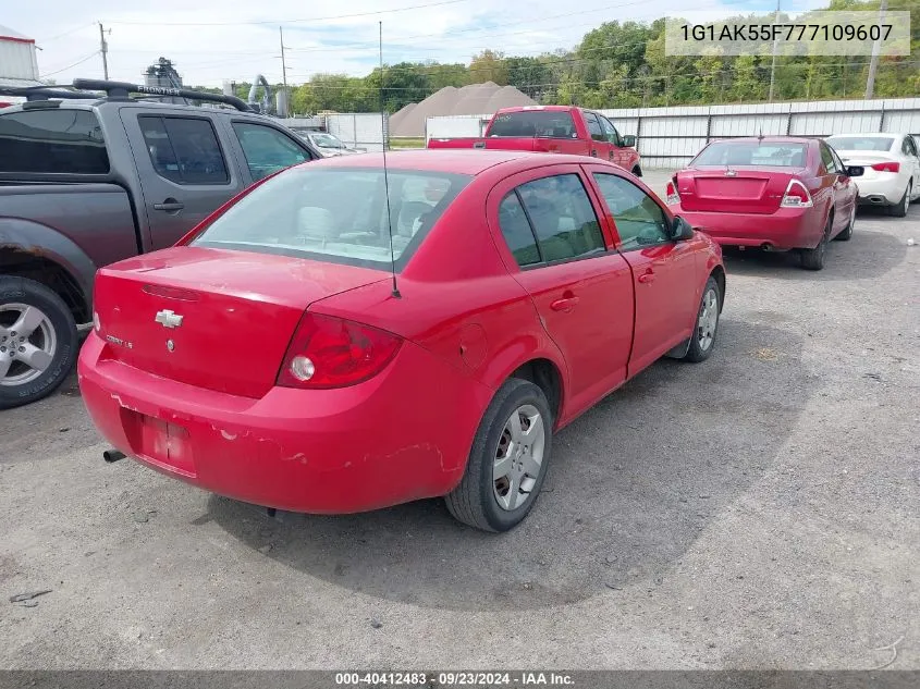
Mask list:
[[780,208],[795,174],[763,168],[700,168],[682,170],[676,176],[686,211],[766,214]]

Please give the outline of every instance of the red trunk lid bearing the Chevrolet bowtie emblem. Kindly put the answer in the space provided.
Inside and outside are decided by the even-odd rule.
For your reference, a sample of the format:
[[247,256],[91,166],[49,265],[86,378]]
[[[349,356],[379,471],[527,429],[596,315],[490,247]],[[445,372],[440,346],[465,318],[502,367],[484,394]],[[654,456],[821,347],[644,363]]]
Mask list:
[[175,247],[100,270],[95,309],[109,358],[260,397],[311,303],[385,279],[302,258]]

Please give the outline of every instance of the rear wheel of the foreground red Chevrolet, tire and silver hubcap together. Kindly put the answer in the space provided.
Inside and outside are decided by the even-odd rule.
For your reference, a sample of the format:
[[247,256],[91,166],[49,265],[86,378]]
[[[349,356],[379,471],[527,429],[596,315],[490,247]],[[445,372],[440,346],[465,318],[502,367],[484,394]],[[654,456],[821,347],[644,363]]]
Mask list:
[[463,479],[444,499],[450,513],[483,531],[520,524],[547,476],[552,428],[540,387],[517,378],[505,382],[482,415]]

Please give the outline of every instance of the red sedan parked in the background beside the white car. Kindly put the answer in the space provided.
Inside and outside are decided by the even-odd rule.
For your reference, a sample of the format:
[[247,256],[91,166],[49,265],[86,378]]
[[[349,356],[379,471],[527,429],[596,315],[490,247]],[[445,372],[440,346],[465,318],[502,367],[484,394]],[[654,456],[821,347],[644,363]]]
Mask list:
[[723,139],[674,175],[667,204],[722,245],[796,250],[821,270],[827,243],[852,235],[861,174],[818,139]]

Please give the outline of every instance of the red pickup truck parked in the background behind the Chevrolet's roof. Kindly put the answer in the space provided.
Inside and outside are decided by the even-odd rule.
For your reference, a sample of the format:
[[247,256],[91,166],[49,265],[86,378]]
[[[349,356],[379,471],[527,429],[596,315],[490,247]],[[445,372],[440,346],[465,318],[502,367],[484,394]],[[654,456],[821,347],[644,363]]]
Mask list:
[[428,148],[489,148],[593,156],[642,176],[635,136],[621,136],[599,112],[572,106],[503,108],[482,137],[432,138]]

